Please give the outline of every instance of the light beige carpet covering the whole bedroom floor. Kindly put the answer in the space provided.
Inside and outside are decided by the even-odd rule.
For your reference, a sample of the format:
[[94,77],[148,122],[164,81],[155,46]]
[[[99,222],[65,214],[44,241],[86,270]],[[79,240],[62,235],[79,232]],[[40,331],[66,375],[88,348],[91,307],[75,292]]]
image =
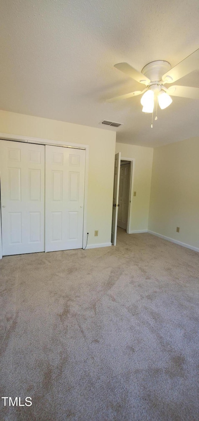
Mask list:
[[1,420],[199,420],[199,254],[116,247],[0,262]]

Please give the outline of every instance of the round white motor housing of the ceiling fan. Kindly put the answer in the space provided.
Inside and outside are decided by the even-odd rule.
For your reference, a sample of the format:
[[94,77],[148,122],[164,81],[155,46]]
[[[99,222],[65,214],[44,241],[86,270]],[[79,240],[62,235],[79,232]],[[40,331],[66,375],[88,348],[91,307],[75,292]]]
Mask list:
[[151,61],[151,63],[146,64],[146,66],[143,67],[142,73],[146,77],[149,77],[151,82],[154,81],[160,81],[162,80],[162,76],[170,70],[171,65],[168,63],[168,61],[164,60],[157,60],[157,61]]

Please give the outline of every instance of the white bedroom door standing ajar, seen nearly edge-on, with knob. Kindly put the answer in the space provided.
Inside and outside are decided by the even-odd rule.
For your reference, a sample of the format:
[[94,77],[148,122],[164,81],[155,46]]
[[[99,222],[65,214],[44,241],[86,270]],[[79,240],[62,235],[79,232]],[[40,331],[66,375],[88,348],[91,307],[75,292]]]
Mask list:
[[120,158],[121,158],[121,152],[118,152],[118,154],[115,155],[115,166],[114,166],[113,213],[112,213],[112,228],[111,228],[111,243],[113,245],[116,245],[116,236],[117,236]]

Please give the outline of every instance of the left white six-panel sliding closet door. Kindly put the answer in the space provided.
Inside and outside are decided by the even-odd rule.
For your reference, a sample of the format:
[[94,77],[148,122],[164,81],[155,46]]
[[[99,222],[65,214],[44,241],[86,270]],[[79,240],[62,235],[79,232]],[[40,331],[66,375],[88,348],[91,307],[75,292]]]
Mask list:
[[3,256],[44,251],[45,147],[0,141]]

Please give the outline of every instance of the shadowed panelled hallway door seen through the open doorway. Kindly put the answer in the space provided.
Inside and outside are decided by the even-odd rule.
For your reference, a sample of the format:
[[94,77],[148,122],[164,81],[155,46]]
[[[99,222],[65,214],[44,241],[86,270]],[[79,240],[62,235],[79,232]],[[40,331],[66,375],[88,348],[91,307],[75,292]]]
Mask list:
[[130,163],[120,165],[119,175],[119,209],[117,226],[127,229],[130,193]]

